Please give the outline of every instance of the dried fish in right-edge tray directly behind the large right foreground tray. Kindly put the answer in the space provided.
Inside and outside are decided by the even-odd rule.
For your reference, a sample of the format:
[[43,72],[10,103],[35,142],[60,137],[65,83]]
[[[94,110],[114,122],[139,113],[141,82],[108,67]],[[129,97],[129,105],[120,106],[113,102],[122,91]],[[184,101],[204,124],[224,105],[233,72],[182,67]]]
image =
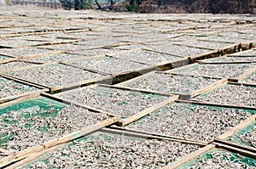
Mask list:
[[226,85],[196,99],[218,104],[256,106],[256,89],[253,87]]

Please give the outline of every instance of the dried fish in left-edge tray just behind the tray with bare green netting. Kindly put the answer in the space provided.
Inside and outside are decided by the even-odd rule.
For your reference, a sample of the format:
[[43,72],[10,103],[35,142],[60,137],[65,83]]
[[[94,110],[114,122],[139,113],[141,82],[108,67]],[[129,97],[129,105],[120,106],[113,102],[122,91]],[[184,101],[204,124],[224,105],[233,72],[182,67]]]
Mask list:
[[0,98],[36,91],[38,88],[0,77]]

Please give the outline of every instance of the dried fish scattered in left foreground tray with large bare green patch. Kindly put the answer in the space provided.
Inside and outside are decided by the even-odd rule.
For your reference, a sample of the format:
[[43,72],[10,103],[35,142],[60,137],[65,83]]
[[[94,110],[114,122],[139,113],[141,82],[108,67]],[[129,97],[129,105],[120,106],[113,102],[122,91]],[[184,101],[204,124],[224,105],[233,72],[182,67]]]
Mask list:
[[[31,109],[22,112],[9,111],[0,116],[0,143],[8,139],[2,144],[5,149],[20,151],[108,119],[108,115],[94,113],[75,105],[68,105],[62,110],[42,110],[37,106]],[[44,114],[47,115],[43,116]]]

